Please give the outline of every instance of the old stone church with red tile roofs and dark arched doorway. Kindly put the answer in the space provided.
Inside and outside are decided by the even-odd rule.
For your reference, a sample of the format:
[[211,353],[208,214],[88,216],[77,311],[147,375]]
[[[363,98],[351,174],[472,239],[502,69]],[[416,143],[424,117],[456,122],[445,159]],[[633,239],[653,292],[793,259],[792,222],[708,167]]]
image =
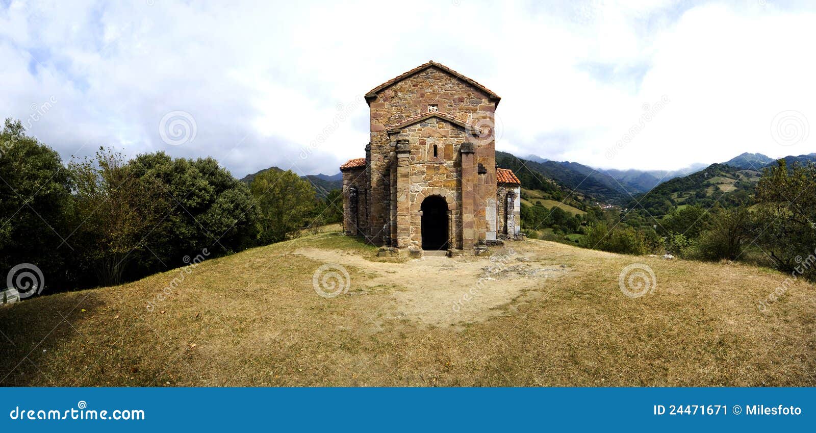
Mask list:
[[369,91],[366,157],[340,166],[346,234],[450,254],[520,236],[521,182],[496,168],[499,100],[433,61]]

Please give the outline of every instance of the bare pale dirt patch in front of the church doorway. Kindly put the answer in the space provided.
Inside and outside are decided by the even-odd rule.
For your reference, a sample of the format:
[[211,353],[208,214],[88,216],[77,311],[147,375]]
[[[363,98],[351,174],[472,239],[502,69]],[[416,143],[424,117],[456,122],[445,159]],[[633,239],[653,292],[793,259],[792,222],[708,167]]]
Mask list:
[[380,307],[379,319],[436,326],[463,325],[505,314],[514,299],[539,296],[539,290],[552,287],[557,278],[570,272],[567,265],[540,263],[529,250],[495,250],[490,258],[426,257],[399,264],[371,262],[343,250],[304,248],[295,254],[374,275],[352,281],[352,293],[396,286]]

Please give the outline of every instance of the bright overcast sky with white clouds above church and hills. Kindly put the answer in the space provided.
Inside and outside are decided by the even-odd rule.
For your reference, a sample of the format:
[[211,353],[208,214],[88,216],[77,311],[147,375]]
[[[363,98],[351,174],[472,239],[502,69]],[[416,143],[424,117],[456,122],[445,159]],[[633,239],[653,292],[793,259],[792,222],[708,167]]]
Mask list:
[[362,95],[435,60],[502,97],[497,148],[521,157],[816,152],[813,2],[543,3],[0,0],[0,116],[64,160],[105,145],[334,174],[364,156]]

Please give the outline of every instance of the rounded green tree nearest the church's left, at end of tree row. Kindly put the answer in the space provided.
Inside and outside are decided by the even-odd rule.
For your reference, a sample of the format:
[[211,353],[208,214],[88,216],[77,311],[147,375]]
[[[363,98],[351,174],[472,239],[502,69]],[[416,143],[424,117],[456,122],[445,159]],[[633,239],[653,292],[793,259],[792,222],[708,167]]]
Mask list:
[[251,191],[258,203],[264,243],[284,241],[287,234],[303,228],[316,205],[312,185],[291,170],[268,170],[255,176]]

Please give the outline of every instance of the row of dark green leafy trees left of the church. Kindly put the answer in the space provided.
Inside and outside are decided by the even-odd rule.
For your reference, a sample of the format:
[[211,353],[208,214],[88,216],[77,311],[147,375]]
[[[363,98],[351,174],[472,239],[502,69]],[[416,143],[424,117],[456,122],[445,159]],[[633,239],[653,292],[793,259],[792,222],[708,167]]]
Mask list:
[[126,161],[100,148],[63,165],[10,119],[0,131],[0,267],[33,263],[48,291],[113,285],[342,220],[342,197],[269,170],[252,190],[212,158]]

